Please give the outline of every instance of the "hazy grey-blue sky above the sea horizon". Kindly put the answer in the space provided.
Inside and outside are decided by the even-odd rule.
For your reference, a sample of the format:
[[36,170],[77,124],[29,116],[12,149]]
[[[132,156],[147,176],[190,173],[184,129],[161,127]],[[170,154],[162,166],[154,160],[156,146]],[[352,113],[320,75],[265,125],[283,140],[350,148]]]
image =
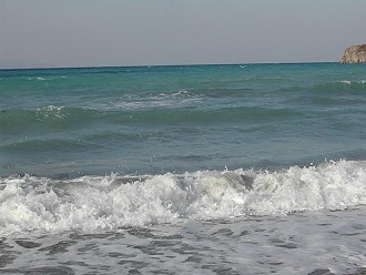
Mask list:
[[0,68],[338,61],[365,0],[0,0]]

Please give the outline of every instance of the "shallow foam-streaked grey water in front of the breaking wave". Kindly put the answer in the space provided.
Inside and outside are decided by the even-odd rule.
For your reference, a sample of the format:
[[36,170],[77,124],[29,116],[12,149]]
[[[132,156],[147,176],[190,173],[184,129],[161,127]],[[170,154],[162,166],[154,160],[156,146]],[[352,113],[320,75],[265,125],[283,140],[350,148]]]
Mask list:
[[1,238],[1,274],[365,274],[366,208]]

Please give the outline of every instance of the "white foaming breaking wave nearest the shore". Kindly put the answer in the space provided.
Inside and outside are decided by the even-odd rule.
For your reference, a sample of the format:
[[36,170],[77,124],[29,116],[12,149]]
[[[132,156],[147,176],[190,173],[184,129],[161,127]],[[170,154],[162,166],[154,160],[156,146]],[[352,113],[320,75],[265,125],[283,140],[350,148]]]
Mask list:
[[0,236],[39,231],[118,230],[192,218],[284,215],[366,204],[366,162],[268,172],[181,175],[26,175],[0,181]]

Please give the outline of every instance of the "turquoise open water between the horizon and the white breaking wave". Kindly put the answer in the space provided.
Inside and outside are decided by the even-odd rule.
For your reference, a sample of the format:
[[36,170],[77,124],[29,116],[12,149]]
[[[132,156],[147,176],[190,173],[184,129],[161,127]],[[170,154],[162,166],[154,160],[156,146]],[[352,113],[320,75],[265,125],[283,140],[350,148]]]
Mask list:
[[0,72],[0,175],[161,174],[365,160],[366,67]]

